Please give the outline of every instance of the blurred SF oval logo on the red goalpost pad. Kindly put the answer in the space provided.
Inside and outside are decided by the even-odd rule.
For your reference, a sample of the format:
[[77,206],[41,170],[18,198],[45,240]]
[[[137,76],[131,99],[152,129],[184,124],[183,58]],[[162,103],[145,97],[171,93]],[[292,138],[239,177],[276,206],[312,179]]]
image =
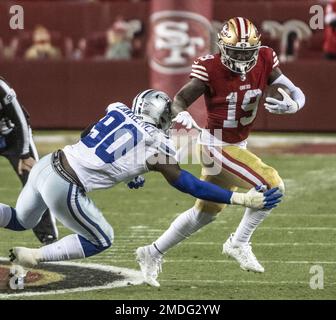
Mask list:
[[151,67],[160,73],[190,71],[195,57],[209,51],[211,24],[203,16],[187,11],[159,11],[151,16]]

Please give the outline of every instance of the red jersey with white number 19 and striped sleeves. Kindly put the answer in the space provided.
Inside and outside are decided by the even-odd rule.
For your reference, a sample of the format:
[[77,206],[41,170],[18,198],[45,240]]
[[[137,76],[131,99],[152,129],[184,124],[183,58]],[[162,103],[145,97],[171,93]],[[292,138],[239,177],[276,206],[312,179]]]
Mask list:
[[255,67],[242,81],[240,75],[226,68],[220,54],[198,58],[192,65],[191,78],[204,81],[208,110],[207,129],[214,134],[222,129],[222,140],[237,143],[245,140],[257,115],[258,105],[270,73],[279,65],[273,49],[261,47]]

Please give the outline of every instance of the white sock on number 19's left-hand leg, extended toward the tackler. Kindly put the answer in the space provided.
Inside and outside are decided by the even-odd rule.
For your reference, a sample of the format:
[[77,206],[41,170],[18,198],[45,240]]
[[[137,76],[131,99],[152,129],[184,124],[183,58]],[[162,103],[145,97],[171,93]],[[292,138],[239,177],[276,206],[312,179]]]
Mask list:
[[195,207],[181,213],[151,246],[150,252],[153,257],[162,256],[170,248],[190,237],[216,217],[212,214],[200,212]]

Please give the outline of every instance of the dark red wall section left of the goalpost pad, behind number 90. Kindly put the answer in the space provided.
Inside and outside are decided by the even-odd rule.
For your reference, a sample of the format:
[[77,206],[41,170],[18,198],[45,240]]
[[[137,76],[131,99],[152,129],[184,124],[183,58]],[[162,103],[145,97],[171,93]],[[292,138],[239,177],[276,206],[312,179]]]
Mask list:
[[84,128],[116,101],[128,105],[148,87],[145,60],[0,63],[33,128]]

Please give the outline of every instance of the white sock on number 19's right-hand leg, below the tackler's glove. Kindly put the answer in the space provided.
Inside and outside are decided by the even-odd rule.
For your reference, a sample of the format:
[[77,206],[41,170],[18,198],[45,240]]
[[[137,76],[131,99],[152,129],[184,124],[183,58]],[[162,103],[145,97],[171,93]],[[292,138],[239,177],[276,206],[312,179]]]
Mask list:
[[243,219],[234,233],[232,244],[239,246],[248,243],[254,230],[263,222],[272,210],[256,210],[246,208]]

